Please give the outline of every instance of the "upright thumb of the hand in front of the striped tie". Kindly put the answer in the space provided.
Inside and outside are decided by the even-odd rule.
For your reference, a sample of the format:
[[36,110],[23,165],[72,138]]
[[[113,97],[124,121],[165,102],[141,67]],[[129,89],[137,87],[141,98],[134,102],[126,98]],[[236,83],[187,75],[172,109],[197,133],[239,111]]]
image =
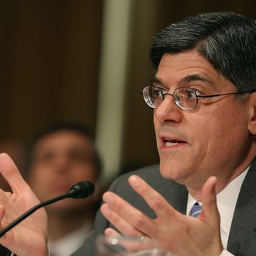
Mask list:
[[202,187],[202,215],[207,223],[220,222],[220,214],[216,204],[216,177],[210,177]]

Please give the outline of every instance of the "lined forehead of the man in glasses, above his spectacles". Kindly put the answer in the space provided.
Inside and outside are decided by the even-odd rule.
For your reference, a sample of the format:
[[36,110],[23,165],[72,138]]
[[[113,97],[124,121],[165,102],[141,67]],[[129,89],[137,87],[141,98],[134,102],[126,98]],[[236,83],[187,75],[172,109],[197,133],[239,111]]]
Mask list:
[[202,57],[197,50],[187,50],[178,54],[164,54],[161,57],[155,78],[167,85],[195,80],[218,85],[222,81],[227,81],[227,78],[216,71],[213,65],[205,57]]

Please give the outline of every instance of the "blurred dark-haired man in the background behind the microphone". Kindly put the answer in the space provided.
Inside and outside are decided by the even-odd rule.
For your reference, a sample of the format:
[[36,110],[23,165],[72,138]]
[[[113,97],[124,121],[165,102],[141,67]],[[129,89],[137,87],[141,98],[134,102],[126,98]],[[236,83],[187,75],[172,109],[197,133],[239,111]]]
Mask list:
[[[82,180],[97,187],[101,163],[91,134],[80,123],[47,127],[32,140],[28,152],[26,178],[40,201],[61,195]],[[81,246],[92,230],[98,202],[96,190],[88,199],[64,199],[47,206],[51,254],[67,256]]]

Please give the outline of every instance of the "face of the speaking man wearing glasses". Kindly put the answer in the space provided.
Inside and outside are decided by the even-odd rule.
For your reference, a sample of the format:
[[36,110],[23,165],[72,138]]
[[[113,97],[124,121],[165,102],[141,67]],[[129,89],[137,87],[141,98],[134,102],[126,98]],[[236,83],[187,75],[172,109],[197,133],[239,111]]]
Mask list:
[[[195,88],[202,95],[236,92],[196,50],[164,54],[154,80],[170,93],[178,87]],[[161,174],[194,189],[210,175],[227,179],[243,166],[250,150],[248,120],[247,102],[234,95],[199,99],[190,111],[179,109],[166,95],[154,109]]]

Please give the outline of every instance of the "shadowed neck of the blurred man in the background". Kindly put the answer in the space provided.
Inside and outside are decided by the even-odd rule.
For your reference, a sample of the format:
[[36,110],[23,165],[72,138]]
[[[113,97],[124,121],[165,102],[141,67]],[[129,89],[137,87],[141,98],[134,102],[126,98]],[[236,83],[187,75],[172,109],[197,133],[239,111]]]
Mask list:
[[71,233],[85,223],[91,224],[94,219],[93,213],[62,214],[48,212],[49,239],[56,241]]

